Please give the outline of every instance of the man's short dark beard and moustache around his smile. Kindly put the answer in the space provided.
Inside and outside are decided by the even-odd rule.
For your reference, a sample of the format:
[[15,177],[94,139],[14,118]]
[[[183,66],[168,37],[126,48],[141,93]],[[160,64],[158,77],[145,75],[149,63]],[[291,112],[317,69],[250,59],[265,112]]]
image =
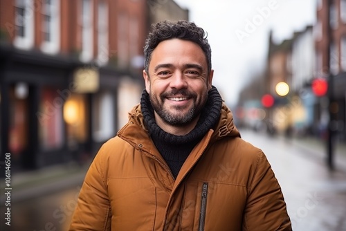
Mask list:
[[[169,109],[164,108],[164,102],[167,100],[167,96],[172,97],[173,95],[179,95],[182,97],[191,98],[193,100],[192,108],[185,113],[179,113],[179,108],[186,110],[183,107],[176,106],[175,109],[178,113],[172,113]],[[201,113],[203,107],[206,105],[208,99],[208,92],[204,93],[201,97],[200,102],[197,102],[197,94],[191,93],[186,89],[172,90],[169,93],[163,93],[160,95],[160,100],[150,91],[149,99],[152,103],[154,111],[160,116],[167,124],[182,127],[185,124],[191,122],[194,118]]]

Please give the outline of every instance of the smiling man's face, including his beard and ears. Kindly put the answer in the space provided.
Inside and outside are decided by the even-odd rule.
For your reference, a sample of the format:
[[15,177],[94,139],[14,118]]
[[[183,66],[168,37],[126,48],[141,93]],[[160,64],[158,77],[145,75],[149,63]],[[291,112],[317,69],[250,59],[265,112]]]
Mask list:
[[156,122],[175,127],[197,122],[213,74],[203,50],[192,41],[162,41],[152,52],[148,72],[143,77]]

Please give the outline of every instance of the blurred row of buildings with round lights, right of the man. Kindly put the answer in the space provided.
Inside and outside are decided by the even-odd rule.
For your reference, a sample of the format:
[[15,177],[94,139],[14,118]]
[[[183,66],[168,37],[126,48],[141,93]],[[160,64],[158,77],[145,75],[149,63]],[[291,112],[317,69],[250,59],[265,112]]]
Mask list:
[[[346,1],[319,0],[316,24],[295,32],[291,39],[275,44],[272,33],[268,39],[267,67],[256,79],[265,91],[257,95],[246,89],[241,93],[239,108],[257,100],[257,108],[265,111],[264,127],[279,133],[296,133],[325,138],[329,126],[338,139],[346,141]],[[326,83],[316,86],[317,81]],[[284,82],[289,91],[277,84]],[[281,86],[281,85],[280,85]],[[324,89],[325,88],[325,89]],[[323,93],[316,93],[316,89]],[[266,107],[264,95],[271,95],[273,104]],[[262,101],[261,101],[262,100]],[[260,106],[258,106],[260,105]],[[254,110],[254,108],[249,109]],[[250,118],[242,113],[240,121],[248,125]],[[260,115],[260,114],[259,114]],[[239,120],[239,119],[238,119]]]

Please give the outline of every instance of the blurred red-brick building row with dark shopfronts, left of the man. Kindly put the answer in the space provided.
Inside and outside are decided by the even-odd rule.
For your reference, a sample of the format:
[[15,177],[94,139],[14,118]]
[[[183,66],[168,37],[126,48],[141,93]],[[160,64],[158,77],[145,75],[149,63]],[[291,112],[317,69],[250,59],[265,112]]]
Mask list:
[[0,5],[0,155],[18,171],[91,158],[140,100],[149,24],[188,19],[172,0]]

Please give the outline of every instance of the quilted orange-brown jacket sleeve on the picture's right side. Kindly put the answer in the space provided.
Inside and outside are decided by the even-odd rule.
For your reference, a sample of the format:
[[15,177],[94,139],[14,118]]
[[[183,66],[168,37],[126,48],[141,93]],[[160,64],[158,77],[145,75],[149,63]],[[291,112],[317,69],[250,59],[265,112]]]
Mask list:
[[281,187],[262,151],[249,179],[243,230],[292,230]]

